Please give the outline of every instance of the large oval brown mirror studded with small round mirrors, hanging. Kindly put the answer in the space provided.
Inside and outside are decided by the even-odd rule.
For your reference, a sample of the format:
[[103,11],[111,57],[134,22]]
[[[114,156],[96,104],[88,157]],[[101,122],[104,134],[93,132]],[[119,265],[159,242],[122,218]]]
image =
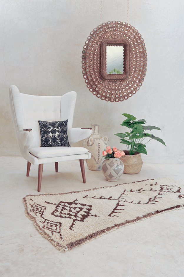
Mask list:
[[92,94],[119,102],[142,85],[147,53],[141,34],[130,24],[109,21],[95,28],[82,51],[82,73]]

